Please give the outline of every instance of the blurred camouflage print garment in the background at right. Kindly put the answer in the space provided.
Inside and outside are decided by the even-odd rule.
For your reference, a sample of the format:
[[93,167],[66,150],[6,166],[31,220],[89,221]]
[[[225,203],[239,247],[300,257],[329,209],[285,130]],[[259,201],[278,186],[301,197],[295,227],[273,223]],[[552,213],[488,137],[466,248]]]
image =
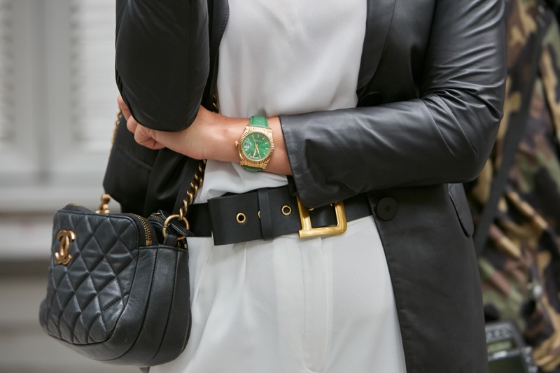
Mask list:
[[[479,258],[487,318],[517,323],[542,372],[560,373],[560,30],[554,12],[535,0],[506,0],[508,77],[504,118],[491,158],[467,185],[475,223],[502,161],[508,125],[529,100],[524,135],[489,239]],[[543,5],[540,5],[541,7]],[[539,16],[540,14],[540,16]],[[540,50],[537,26],[544,27]],[[531,55],[540,52],[533,91]],[[526,91],[528,92],[528,91]]]

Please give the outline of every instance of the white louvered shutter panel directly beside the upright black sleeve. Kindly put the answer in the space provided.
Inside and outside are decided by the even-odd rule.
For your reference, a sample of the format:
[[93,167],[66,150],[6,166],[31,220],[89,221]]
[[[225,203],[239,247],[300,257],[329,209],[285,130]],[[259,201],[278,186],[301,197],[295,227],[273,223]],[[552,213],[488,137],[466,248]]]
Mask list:
[[115,84],[115,0],[71,0],[71,107],[76,139],[109,149],[118,109]]

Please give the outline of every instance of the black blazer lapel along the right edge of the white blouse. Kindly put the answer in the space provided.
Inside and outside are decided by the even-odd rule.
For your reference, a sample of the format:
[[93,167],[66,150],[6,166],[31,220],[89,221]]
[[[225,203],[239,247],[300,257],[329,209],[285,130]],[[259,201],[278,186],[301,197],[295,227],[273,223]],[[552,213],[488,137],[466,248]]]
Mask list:
[[367,83],[372,79],[381,52],[385,45],[389,26],[393,20],[393,10],[396,0],[368,0],[367,19],[365,23],[365,37],[363,40],[362,59],[360,61],[360,73],[358,75],[358,96],[363,94]]

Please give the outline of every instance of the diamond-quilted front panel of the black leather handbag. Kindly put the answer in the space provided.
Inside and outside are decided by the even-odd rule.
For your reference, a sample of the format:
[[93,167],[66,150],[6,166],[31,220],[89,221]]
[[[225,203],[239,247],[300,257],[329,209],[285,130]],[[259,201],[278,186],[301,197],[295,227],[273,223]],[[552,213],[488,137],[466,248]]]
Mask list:
[[[76,232],[68,265],[54,260],[62,229]],[[106,341],[130,295],[141,237],[137,224],[127,216],[62,209],[55,214],[52,237],[47,296],[41,305],[43,328],[71,344]]]

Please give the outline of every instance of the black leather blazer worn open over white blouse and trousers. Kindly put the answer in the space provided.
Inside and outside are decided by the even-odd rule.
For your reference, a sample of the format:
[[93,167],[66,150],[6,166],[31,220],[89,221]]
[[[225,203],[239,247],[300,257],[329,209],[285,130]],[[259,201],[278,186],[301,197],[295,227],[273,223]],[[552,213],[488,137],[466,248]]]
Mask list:
[[[186,128],[201,102],[211,108],[227,0],[118,0],[117,13],[116,77],[132,115]],[[487,370],[472,220],[456,183],[482,169],[502,116],[503,13],[501,0],[367,0],[359,107],[280,116],[304,204],[367,192],[411,373]],[[196,164],[138,146],[121,125],[104,186],[125,210],[173,209]],[[396,213],[382,213],[388,203]]]

